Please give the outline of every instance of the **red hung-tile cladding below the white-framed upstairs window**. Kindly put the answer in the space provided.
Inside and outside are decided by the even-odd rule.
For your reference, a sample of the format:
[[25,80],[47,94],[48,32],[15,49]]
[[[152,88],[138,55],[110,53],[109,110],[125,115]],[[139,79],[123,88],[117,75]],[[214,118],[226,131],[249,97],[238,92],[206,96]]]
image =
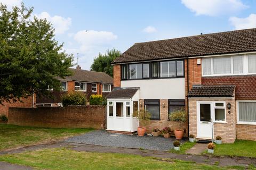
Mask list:
[[205,85],[235,85],[236,100],[256,100],[256,76],[225,76],[225,77],[203,77],[202,84]]

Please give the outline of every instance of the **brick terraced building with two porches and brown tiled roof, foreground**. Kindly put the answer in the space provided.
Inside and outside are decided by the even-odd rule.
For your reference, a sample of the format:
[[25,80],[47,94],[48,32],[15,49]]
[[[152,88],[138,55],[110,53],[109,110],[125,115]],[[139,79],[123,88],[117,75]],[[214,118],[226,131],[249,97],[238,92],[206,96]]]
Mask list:
[[175,129],[168,115],[185,108],[186,136],[211,139],[213,125],[223,142],[256,140],[256,29],[135,43],[113,65],[107,130],[137,131],[140,108],[148,132]]

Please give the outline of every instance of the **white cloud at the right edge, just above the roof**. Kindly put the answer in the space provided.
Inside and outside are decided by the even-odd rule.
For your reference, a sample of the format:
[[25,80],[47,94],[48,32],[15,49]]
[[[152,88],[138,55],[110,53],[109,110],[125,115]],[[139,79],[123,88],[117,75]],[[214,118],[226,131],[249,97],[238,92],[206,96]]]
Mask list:
[[229,21],[231,25],[235,27],[236,30],[256,28],[256,14],[250,14],[246,18],[230,17]]

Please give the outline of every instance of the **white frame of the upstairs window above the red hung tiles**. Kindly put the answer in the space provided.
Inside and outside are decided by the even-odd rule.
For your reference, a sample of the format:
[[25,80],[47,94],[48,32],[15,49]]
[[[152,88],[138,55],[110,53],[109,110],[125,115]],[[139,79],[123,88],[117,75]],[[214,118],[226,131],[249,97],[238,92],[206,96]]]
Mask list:
[[[237,73],[234,74],[234,69],[233,69],[233,57],[236,56],[242,56],[243,58],[243,73]],[[247,55],[233,55],[233,56],[220,56],[220,57],[209,57],[211,58],[211,74],[209,75],[204,75],[203,74],[203,61],[202,61],[202,77],[212,77],[212,76],[223,76],[223,75],[246,75],[246,74],[255,74],[255,73],[248,73],[248,58]],[[214,58],[230,58],[230,73],[226,74],[214,74],[214,67],[213,67],[213,59]],[[202,58],[204,60],[204,58]],[[246,64],[247,63],[247,64]]]

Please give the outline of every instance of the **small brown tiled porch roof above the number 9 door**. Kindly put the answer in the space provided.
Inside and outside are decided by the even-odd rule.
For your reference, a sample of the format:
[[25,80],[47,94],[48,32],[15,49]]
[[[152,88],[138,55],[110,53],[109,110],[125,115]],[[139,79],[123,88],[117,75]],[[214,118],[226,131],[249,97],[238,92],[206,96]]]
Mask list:
[[188,92],[188,97],[233,97],[235,86],[196,85]]

